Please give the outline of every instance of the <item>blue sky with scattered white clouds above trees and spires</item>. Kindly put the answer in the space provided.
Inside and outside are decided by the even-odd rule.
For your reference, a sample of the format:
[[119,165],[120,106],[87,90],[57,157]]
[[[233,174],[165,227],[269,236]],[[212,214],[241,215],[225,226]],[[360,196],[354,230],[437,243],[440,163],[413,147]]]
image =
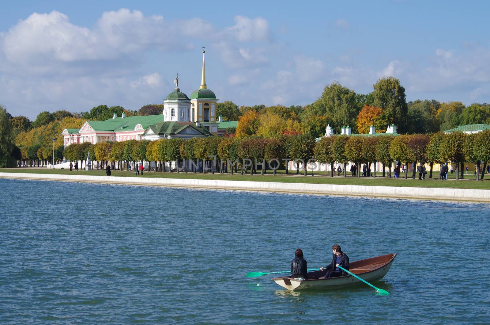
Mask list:
[[161,104],[175,74],[220,101],[306,105],[333,81],[407,101],[490,102],[490,1],[4,1],[0,104],[43,110]]

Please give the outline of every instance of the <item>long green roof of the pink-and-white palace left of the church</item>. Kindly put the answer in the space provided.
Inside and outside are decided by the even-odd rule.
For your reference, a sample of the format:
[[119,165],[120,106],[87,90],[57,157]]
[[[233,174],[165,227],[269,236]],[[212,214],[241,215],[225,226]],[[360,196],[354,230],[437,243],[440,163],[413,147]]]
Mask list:
[[149,125],[163,121],[163,114],[146,116],[126,116],[110,118],[105,121],[87,121],[95,131],[128,131],[134,130],[137,124],[141,124],[143,129]]

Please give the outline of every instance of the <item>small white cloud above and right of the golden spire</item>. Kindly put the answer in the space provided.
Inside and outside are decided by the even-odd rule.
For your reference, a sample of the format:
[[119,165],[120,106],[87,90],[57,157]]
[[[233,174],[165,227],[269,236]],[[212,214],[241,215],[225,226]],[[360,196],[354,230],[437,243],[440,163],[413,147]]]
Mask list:
[[235,26],[229,27],[227,31],[240,42],[270,42],[271,32],[269,22],[264,18],[250,19],[245,16],[235,17]]

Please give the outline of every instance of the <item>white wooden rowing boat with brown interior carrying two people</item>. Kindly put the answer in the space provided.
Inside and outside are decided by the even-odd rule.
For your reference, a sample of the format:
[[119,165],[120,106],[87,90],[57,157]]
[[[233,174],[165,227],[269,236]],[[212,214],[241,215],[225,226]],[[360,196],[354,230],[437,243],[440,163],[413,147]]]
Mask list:
[[[393,260],[396,254],[387,254],[382,256],[376,256],[367,258],[365,260],[355,261],[350,263],[350,269],[352,273],[361,277],[368,282],[381,279],[390,270]],[[289,276],[275,277],[272,280],[289,290],[302,290],[302,289],[335,289],[341,287],[347,287],[352,285],[358,285],[362,283],[352,275],[344,275],[331,278],[323,278],[327,271],[313,271],[308,272],[308,278],[306,280],[298,280]]]

